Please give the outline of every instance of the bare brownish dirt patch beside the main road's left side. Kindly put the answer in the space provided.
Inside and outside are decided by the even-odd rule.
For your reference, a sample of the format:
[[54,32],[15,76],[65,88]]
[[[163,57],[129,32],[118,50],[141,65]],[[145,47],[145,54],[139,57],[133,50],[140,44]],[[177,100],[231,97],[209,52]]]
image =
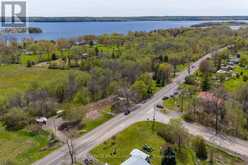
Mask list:
[[113,102],[113,96],[108,97],[108,98],[103,99],[103,100],[99,100],[95,103],[91,103],[89,105],[86,105],[84,107],[84,109],[87,110],[86,118],[91,119],[91,120],[95,120],[95,119],[99,118],[101,116],[101,112],[105,108],[110,106],[112,104],[112,102]]

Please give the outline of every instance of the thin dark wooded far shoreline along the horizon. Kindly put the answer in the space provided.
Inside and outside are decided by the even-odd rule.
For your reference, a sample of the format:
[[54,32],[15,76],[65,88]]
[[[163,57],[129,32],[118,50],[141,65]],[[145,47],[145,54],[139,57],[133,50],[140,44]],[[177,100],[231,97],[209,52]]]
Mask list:
[[239,21],[248,20],[248,16],[28,17],[27,19],[28,22]]

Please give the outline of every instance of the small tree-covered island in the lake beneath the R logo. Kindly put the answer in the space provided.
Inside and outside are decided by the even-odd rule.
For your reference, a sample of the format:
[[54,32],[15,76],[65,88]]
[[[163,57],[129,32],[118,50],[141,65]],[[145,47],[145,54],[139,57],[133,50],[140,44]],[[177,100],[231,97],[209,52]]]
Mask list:
[[23,27],[23,28],[4,28],[0,33],[42,33],[42,29],[38,27]]

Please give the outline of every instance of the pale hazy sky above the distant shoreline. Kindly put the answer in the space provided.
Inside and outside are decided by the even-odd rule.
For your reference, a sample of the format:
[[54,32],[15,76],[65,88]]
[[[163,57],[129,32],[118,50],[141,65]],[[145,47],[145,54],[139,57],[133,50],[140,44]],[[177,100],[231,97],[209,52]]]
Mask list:
[[27,0],[29,16],[248,16],[248,0]]

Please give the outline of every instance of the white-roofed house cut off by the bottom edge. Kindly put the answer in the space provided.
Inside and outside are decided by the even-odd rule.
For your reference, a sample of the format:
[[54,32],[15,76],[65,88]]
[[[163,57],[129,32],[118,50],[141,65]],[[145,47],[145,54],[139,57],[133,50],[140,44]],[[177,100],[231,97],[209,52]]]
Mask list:
[[121,165],[150,165],[150,156],[138,149],[132,150],[129,159]]

